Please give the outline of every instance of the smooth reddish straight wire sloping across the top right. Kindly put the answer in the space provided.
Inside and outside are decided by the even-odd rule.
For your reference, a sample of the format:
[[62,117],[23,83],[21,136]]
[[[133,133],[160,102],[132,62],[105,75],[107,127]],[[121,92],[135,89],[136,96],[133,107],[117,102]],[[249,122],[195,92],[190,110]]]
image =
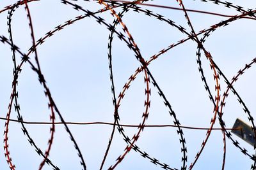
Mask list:
[[[122,1],[122,0],[112,0],[112,1],[120,2],[120,3],[134,3],[134,4],[138,4],[138,5],[143,5],[143,6],[152,6],[152,7],[156,7],[156,8],[166,8],[166,9],[170,9],[170,10],[180,10],[180,11],[183,11],[182,8],[175,8],[175,7],[172,7],[172,6],[163,6],[163,5],[158,5],[158,4],[147,4],[147,3]],[[221,13],[213,13],[213,12],[200,11],[200,10],[189,10],[189,9],[186,9],[186,11],[195,12],[195,13],[204,13],[204,14],[209,14],[209,15],[216,15],[216,16],[220,16],[220,17],[229,17],[229,18],[234,17],[234,15],[224,15],[224,14],[221,14]],[[256,18],[252,18],[252,17],[242,17],[242,18],[256,20]]]

